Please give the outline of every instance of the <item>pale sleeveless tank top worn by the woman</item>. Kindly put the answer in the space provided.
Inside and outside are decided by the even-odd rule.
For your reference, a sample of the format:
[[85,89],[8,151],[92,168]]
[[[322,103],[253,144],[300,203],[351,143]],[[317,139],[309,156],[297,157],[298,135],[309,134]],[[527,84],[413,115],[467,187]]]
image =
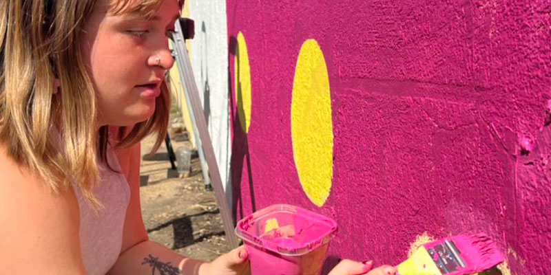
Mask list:
[[[120,171],[121,166],[112,151],[107,149],[110,166]],[[90,204],[75,189],[81,212],[81,255],[87,275],[105,275],[121,254],[123,225],[130,199],[130,189],[122,173],[100,164],[101,181],[92,189],[103,207],[94,212]]]

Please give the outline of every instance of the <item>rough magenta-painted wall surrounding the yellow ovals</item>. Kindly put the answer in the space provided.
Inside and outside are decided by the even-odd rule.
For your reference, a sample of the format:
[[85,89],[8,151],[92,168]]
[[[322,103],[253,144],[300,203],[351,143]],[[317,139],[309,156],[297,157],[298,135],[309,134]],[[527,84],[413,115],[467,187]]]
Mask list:
[[[238,32],[251,72],[247,134],[231,91],[237,217],[303,206],[339,223],[331,256],[392,264],[423,232],[487,232],[512,274],[548,274],[551,4],[523,2],[227,0],[230,87]],[[333,184],[321,208],[302,191],[291,141],[306,39],[331,85]]]

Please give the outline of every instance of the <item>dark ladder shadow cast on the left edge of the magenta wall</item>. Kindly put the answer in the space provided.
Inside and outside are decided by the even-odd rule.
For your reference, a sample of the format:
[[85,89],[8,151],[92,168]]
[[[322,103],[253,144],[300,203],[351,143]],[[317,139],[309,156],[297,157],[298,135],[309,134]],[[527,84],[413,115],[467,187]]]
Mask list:
[[[229,60],[236,58],[236,89],[233,91],[231,83],[231,69],[228,66],[228,91],[229,91],[229,104],[230,104],[230,117],[231,117],[231,129],[233,129],[233,140],[231,141],[231,194],[232,194],[232,214],[233,220],[236,221],[238,217],[243,217],[243,194],[241,193],[241,180],[243,165],[247,164],[247,173],[249,178],[249,192],[251,199],[251,206],[253,212],[256,211],[256,201],[254,195],[253,175],[251,170],[251,157],[249,154],[249,141],[247,139],[247,133],[243,131],[241,122],[239,120],[239,112],[243,112],[243,104],[241,98],[241,83],[239,82],[239,45],[235,36],[229,37]],[[228,62],[230,64],[230,62]],[[233,92],[236,92],[236,98],[234,100]],[[237,111],[234,106],[237,107]]]

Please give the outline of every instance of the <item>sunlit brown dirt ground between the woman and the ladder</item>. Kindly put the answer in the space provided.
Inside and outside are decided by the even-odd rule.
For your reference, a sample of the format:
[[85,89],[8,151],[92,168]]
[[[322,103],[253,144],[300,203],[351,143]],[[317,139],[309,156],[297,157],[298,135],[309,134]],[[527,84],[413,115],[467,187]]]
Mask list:
[[[174,113],[169,123],[174,151],[180,146],[191,148],[187,132],[178,125],[178,113]],[[183,179],[171,169],[165,142],[157,153],[148,155],[154,142],[151,136],[141,144],[141,203],[149,239],[204,261],[228,252],[216,197],[214,191],[205,190],[197,154],[191,159],[191,175]]]

